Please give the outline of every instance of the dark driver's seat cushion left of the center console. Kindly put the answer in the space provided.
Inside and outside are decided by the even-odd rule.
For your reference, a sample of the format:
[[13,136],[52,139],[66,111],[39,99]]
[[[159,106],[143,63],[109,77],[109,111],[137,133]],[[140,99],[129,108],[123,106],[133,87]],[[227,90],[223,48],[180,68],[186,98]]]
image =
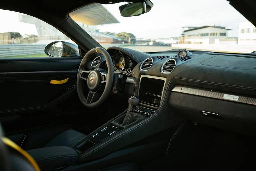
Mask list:
[[53,146],[73,147],[79,141],[83,140],[85,137],[86,135],[80,132],[77,132],[75,130],[69,129],[67,131],[62,132],[57,137],[53,138],[44,147],[53,147]]

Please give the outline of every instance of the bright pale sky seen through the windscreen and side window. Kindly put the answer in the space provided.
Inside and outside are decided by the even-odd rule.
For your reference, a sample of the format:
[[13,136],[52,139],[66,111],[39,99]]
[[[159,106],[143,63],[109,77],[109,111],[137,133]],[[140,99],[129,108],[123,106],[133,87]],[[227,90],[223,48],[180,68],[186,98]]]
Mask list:
[[[124,3],[104,5],[120,23],[98,25],[101,32],[130,32],[138,38],[178,37],[183,26],[226,26],[229,37],[238,37],[240,22],[247,21],[226,0],[151,0],[150,12],[134,17],[122,17],[119,6]],[[19,22],[18,14],[0,10],[0,33],[20,32],[37,34],[35,25]],[[107,16],[106,16],[107,19]]]

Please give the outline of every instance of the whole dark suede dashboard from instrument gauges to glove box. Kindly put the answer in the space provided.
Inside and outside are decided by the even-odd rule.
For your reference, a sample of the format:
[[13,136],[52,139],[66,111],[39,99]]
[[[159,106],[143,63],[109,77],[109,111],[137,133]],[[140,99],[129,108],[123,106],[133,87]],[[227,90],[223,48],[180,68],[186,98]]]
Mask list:
[[168,103],[190,121],[256,136],[255,54],[142,53],[119,47],[108,52],[116,72],[129,75],[128,95],[139,96],[141,106],[157,109]]

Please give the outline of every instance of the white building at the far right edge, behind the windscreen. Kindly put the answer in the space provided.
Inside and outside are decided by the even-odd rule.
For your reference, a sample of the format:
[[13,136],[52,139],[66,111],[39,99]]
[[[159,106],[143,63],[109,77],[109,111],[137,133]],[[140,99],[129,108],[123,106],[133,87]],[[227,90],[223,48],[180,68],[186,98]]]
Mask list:
[[239,45],[256,45],[256,27],[248,22],[239,23]]

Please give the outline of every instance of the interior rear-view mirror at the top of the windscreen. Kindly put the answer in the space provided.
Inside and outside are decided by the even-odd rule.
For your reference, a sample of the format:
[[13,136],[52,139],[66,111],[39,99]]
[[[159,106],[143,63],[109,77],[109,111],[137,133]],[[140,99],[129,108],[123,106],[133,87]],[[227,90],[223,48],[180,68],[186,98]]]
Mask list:
[[152,7],[153,3],[150,0],[146,0],[145,2],[133,2],[121,5],[119,10],[123,17],[132,17],[149,12]]

